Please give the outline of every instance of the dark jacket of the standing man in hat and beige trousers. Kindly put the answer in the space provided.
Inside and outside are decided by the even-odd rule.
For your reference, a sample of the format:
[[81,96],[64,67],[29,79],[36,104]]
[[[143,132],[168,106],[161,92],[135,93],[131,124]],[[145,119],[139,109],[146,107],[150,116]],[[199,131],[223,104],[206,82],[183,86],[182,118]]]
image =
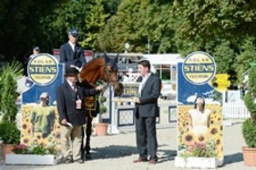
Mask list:
[[75,101],[78,99],[83,101],[85,96],[93,96],[97,94],[95,89],[85,89],[81,84],[77,84],[77,91],[73,91],[68,81],[64,81],[61,84],[56,93],[56,102],[59,112],[59,122],[61,124],[62,119],[67,119],[73,126],[78,126],[86,123],[85,120],[85,108],[82,104],[82,109],[76,109]]

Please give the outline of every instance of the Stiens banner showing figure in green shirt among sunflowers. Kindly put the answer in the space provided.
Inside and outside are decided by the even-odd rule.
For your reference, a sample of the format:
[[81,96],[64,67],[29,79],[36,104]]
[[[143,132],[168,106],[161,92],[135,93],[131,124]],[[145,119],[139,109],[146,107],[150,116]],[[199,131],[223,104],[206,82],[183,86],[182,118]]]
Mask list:
[[23,84],[26,90],[22,94],[20,143],[61,149],[56,87],[63,83],[63,71],[63,65],[47,53],[29,61],[28,81]]

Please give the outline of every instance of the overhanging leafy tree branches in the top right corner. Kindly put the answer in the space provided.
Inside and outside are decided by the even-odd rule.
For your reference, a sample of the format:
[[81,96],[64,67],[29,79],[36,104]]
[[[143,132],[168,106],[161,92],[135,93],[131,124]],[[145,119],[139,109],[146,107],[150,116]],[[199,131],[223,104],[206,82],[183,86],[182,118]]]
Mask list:
[[177,32],[202,45],[215,37],[237,39],[244,34],[255,34],[255,1],[175,0],[173,11],[182,20]]

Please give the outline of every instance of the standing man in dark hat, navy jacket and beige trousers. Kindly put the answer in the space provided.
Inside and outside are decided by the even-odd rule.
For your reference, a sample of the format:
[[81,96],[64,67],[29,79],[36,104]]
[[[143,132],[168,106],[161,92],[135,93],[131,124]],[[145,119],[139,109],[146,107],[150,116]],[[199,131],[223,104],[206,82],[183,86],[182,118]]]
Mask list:
[[[61,124],[61,154],[63,162],[66,163],[73,161],[83,163],[80,146],[83,141],[82,125],[86,123],[86,119],[82,101],[85,96],[93,96],[102,90],[102,86],[97,86],[95,89],[85,89],[77,79],[78,70],[75,67],[66,67],[66,79],[56,92]],[[73,159],[71,155],[73,155]]]

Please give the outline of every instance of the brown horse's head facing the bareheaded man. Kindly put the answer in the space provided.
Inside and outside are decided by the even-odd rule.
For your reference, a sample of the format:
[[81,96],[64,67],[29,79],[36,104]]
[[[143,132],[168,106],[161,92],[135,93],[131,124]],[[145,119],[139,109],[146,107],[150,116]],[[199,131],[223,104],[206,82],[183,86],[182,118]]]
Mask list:
[[103,58],[105,60],[104,80],[114,86],[116,96],[121,96],[123,93],[123,84],[118,82],[118,55],[115,58],[109,58],[104,53]]

